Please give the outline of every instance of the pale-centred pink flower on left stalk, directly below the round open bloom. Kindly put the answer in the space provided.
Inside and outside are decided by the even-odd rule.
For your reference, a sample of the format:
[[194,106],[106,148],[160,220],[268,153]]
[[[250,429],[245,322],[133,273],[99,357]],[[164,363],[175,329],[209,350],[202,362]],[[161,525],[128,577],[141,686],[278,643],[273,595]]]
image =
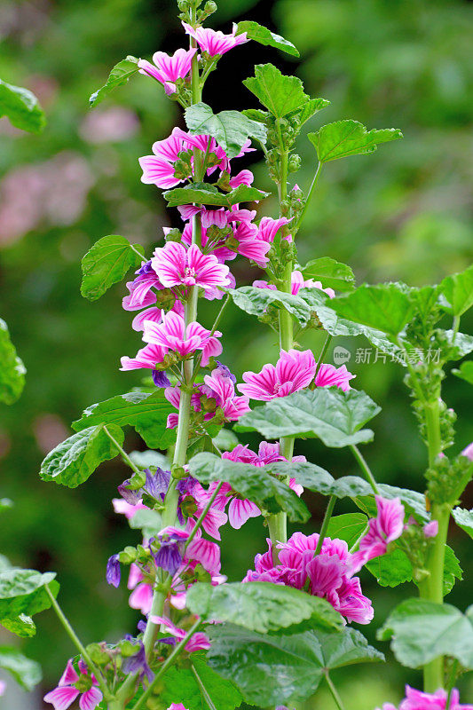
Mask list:
[[195,320],[185,326],[184,318],[171,311],[162,317],[162,323],[145,321],[143,340],[158,345],[166,352],[175,351],[181,358],[200,350],[201,364],[205,367],[211,357],[222,352],[222,345],[217,340],[221,335],[218,330],[210,335],[210,331]]

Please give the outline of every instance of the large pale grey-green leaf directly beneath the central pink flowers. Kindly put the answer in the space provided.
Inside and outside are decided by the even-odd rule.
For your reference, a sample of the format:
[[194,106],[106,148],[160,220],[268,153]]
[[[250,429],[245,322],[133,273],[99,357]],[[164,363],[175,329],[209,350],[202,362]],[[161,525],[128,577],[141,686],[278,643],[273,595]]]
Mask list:
[[373,431],[361,427],[380,411],[363,391],[319,387],[272,399],[244,414],[234,429],[256,430],[265,438],[320,438],[340,448],[371,441]]

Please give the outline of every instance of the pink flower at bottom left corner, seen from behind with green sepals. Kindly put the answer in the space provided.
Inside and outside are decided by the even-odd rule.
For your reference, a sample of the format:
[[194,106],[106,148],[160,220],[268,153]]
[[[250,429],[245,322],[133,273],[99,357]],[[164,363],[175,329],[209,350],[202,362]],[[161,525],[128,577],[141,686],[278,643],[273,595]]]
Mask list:
[[[82,659],[79,660],[79,670],[81,675],[75,671],[72,659],[68,660],[58,687],[44,696],[44,701],[51,703],[54,710],[67,710],[67,707],[71,706],[79,695],[81,696],[79,699],[81,710],[94,710],[101,702],[103,695],[97,687],[99,683],[94,675],[88,675],[87,666]],[[85,690],[83,690],[84,688]]]

